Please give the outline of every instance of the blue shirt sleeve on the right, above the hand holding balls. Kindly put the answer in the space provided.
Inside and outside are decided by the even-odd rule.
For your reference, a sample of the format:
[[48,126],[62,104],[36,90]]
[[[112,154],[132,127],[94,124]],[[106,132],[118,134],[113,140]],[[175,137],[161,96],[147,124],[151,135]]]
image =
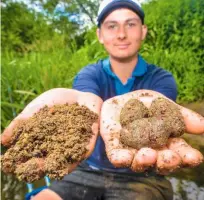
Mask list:
[[176,81],[172,74],[163,71],[158,77],[159,78],[157,78],[152,85],[152,90],[165,95],[173,101],[176,101],[178,91]]

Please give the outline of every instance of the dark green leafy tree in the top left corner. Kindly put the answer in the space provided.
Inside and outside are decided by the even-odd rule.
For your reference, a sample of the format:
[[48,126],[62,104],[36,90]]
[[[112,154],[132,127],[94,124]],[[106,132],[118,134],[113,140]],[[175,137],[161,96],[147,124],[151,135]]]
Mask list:
[[26,51],[49,32],[43,16],[35,15],[23,3],[6,2],[1,9],[2,50]]

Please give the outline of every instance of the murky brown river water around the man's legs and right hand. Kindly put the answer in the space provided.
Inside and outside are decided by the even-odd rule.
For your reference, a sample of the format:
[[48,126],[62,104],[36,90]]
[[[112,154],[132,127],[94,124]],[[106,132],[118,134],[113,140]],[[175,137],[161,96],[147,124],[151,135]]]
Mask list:
[[[204,116],[204,102],[185,105]],[[204,155],[204,135],[185,134],[185,139]],[[167,177],[172,183],[174,200],[204,200],[204,163],[193,169],[181,169]],[[35,188],[44,185],[37,181]],[[1,174],[1,200],[23,200],[27,193],[25,183],[19,182],[11,175]]]

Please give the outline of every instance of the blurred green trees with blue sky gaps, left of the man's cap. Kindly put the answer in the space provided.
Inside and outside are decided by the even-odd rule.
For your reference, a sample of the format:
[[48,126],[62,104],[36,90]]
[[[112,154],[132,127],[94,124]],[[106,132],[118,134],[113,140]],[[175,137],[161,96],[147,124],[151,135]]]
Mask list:
[[[76,36],[77,46],[84,44],[87,23],[94,25],[97,2],[89,0],[21,1],[4,0],[2,15],[2,50],[27,52],[36,44],[60,35],[64,45]],[[36,11],[36,5],[38,11]],[[78,35],[81,34],[79,37]],[[69,46],[70,47],[70,46]]]

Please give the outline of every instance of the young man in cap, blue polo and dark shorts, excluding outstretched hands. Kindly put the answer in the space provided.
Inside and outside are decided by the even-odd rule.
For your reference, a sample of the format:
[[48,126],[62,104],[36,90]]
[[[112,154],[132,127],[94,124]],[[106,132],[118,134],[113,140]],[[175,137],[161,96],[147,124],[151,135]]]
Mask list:
[[[138,53],[146,34],[144,12],[136,0],[103,1],[97,36],[109,58],[83,68],[74,80],[73,89],[96,94],[103,101],[138,89],[154,90],[176,100],[172,75],[148,64]],[[61,198],[171,200],[173,192],[163,176],[116,169],[108,160],[99,136],[94,152],[86,161],[36,196],[36,200]]]

